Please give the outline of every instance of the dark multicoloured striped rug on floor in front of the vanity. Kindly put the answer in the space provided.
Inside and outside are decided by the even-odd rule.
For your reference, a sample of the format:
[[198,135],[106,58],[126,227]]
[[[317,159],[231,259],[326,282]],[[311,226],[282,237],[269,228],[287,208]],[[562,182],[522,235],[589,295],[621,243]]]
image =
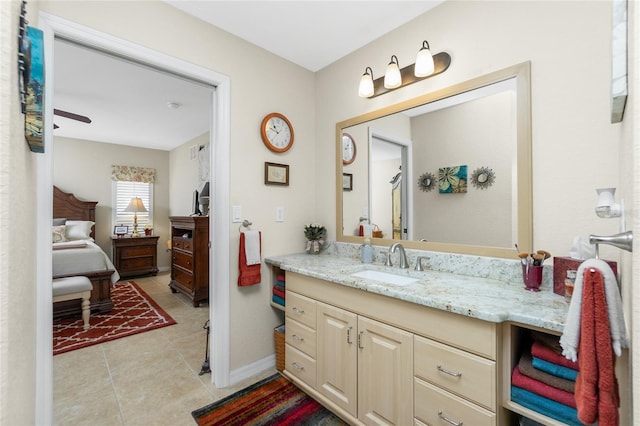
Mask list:
[[206,426],[347,424],[279,373],[191,414]]

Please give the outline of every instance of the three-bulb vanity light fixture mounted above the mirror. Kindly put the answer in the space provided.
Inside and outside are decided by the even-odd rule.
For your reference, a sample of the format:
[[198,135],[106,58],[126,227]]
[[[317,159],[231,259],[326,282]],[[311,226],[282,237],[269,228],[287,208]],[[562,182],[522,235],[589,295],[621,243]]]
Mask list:
[[384,77],[375,80],[371,67],[366,67],[360,78],[358,95],[361,98],[375,98],[391,90],[441,74],[449,68],[450,64],[451,56],[448,53],[440,52],[432,56],[429,43],[424,40],[416,56],[415,64],[400,68],[398,57],[391,55],[391,62],[387,65]]

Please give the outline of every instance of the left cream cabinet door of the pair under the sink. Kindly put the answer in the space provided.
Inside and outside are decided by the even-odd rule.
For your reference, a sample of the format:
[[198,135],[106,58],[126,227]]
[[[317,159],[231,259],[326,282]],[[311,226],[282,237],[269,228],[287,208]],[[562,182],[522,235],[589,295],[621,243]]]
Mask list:
[[318,303],[317,324],[317,389],[356,417],[357,315]]

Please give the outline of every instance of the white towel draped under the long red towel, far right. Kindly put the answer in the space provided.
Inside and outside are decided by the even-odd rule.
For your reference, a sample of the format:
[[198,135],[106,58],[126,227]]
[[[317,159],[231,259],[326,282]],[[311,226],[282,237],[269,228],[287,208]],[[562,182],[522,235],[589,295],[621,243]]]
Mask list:
[[[611,344],[617,356],[622,354],[622,348],[629,347],[627,331],[622,313],[622,300],[618,290],[618,281],[607,262],[601,259],[588,259],[580,264],[576,273],[576,283],[571,296],[569,312],[564,324],[564,331],[560,337],[562,355],[571,361],[578,360],[578,346],[580,345],[580,315],[582,311],[582,281],[584,271],[589,268],[598,269],[604,278],[604,291],[607,298],[609,313],[609,328],[611,329]],[[591,291],[588,289],[588,291]]]

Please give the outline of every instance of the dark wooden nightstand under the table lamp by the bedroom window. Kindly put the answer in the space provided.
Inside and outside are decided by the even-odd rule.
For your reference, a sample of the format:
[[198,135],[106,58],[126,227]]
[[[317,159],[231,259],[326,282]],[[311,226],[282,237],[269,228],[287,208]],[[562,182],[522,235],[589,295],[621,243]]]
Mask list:
[[120,277],[157,275],[158,236],[111,238],[113,264]]

